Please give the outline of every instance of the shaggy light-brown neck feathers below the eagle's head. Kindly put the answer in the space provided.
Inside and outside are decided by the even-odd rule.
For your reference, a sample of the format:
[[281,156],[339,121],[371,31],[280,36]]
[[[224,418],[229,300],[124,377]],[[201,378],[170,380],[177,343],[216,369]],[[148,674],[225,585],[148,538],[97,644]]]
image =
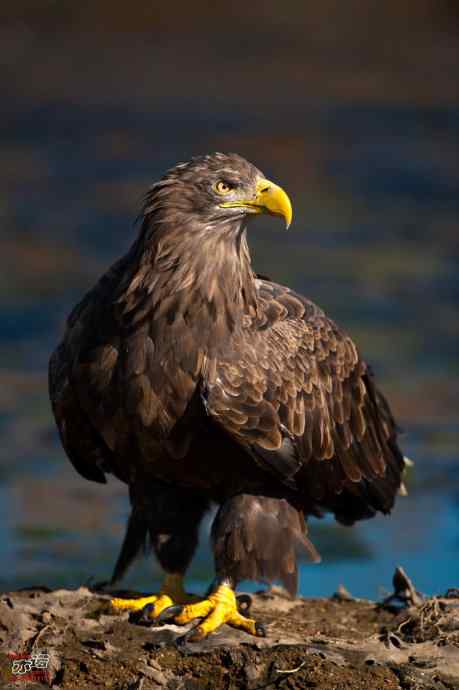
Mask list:
[[211,354],[242,327],[244,315],[258,312],[241,221],[203,225],[159,199],[147,209],[133,251],[136,271],[124,295],[129,303],[142,293],[140,312],[159,340],[186,331]]

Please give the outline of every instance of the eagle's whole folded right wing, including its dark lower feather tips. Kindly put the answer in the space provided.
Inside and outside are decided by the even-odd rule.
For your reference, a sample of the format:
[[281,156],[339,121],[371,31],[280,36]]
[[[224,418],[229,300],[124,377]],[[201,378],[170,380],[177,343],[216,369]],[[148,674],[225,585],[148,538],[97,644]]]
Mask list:
[[258,289],[262,317],[247,323],[238,360],[217,364],[209,413],[300,491],[309,512],[326,508],[352,521],[352,510],[357,517],[389,510],[403,457],[354,343],[289,289],[266,281]]

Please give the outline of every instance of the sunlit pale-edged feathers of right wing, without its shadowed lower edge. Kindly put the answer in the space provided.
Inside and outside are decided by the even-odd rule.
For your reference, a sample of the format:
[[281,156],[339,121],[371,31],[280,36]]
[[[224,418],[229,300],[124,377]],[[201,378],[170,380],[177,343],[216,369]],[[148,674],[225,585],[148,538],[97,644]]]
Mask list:
[[211,414],[252,449],[280,452],[284,427],[303,466],[330,466],[325,481],[337,492],[343,481],[377,481],[390,463],[399,473],[394,421],[352,340],[307,300],[259,284],[263,328],[243,333],[239,363],[217,364]]

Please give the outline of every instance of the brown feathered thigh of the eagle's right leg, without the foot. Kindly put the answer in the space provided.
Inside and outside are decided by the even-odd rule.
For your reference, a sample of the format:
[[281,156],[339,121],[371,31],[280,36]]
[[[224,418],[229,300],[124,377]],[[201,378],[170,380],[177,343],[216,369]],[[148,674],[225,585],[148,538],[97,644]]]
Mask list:
[[240,580],[280,580],[294,596],[297,553],[320,556],[307,538],[303,514],[285,499],[240,494],[222,505],[212,526],[217,574]]

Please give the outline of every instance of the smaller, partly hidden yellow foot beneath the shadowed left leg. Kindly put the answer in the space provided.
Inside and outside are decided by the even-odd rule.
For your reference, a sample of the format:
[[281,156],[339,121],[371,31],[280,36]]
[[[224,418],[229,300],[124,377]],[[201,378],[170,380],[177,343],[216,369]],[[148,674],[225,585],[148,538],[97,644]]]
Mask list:
[[191,604],[199,601],[195,594],[188,594],[183,589],[183,578],[181,575],[166,575],[159,594],[151,594],[148,597],[138,597],[137,599],[112,599],[112,606],[115,609],[137,611],[143,621],[154,620],[171,606],[176,604]]

